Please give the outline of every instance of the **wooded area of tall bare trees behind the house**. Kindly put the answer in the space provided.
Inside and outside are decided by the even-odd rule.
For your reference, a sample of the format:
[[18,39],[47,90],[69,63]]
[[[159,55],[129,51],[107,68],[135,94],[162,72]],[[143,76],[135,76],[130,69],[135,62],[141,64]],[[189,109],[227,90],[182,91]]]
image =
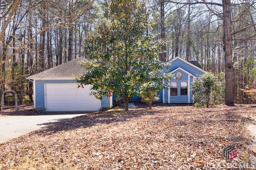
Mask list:
[[[12,88],[19,102],[25,101],[24,95],[32,101],[32,82],[26,77],[77,57],[89,58],[84,48],[86,37],[109,17],[109,3],[1,1],[0,94]],[[162,61],[174,57],[198,61],[204,70],[226,75],[226,96],[231,96],[226,102],[255,103],[255,1],[147,0],[144,8],[155,21],[154,29],[148,31],[158,35],[156,40],[166,42],[160,53]]]

